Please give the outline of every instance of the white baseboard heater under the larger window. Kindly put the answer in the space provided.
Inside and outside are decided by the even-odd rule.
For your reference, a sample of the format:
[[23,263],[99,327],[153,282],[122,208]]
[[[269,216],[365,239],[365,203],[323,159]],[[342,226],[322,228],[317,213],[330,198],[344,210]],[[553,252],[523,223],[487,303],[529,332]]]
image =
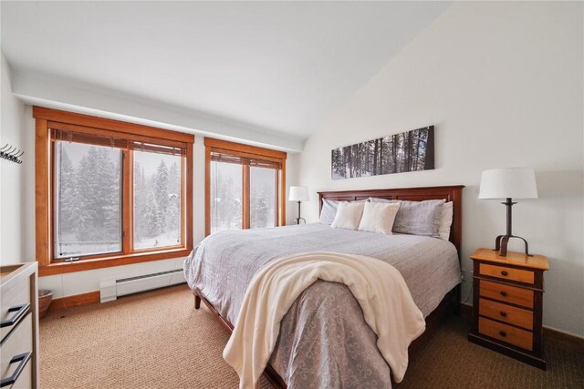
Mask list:
[[135,277],[99,282],[99,295],[101,302],[113,302],[120,296],[151,291],[152,289],[163,288],[183,282],[185,282],[183,269],[159,271]]

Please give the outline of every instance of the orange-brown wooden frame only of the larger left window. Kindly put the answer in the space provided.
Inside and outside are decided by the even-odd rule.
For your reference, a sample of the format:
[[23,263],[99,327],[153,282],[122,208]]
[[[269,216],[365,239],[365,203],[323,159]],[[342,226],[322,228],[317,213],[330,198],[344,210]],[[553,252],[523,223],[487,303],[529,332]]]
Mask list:
[[[46,107],[33,107],[35,124],[35,190],[36,190],[36,261],[39,275],[46,276],[74,271],[88,271],[112,266],[128,265],[146,261],[179,258],[193,251],[193,143],[194,136],[162,128],[152,128],[108,118],[97,118]],[[89,135],[123,138],[186,150],[186,160],[182,164],[183,211],[182,244],[161,249],[141,249],[130,251],[132,247],[132,196],[133,196],[133,154],[125,149],[128,158],[122,167],[122,251],[88,255],[78,261],[55,260],[53,255],[53,139],[52,128],[83,131]]]

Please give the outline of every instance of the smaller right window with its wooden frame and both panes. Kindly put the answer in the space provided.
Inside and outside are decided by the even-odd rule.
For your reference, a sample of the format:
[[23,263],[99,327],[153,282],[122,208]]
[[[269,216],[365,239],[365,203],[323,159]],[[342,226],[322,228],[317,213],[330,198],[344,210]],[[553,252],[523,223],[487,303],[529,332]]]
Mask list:
[[213,138],[205,148],[207,235],[284,225],[285,152]]

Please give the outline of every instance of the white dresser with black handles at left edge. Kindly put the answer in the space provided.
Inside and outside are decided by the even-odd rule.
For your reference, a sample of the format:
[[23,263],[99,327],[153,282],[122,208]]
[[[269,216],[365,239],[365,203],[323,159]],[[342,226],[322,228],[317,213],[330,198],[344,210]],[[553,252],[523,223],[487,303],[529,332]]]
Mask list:
[[0,387],[38,387],[36,262],[0,267]]

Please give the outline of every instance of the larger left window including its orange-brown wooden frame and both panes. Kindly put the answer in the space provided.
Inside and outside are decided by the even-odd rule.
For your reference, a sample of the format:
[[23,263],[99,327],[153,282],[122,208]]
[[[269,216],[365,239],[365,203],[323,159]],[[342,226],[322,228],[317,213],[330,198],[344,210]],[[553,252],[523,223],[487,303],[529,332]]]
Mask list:
[[192,135],[34,107],[41,275],[186,256]]

